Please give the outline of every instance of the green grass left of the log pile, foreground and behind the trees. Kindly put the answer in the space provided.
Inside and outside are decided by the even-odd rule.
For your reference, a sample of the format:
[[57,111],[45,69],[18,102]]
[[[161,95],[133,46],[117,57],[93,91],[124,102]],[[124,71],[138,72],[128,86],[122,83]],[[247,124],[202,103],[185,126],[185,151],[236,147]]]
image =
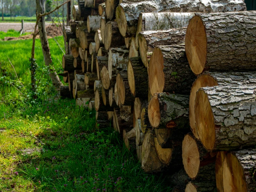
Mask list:
[[[63,45],[63,37],[58,41]],[[30,89],[31,43],[0,42],[0,191],[171,191],[165,176],[143,172],[136,155],[111,126],[95,128],[95,111],[52,96],[49,78],[41,81],[46,94],[37,102],[21,96],[16,88],[23,88],[12,85],[17,78],[7,56],[25,89]],[[53,39],[49,44],[53,66],[61,71],[62,52]],[[35,57],[40,73],[44,68],[40,40]]]

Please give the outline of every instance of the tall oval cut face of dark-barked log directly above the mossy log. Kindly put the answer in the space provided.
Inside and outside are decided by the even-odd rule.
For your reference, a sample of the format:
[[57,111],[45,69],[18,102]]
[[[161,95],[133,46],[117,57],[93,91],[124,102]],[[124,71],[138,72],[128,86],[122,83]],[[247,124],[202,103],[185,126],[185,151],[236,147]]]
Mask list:
[[[148,82],[150,93],[162,93],[164,89],[164,60],[162,51],[159,48],[153,50],[148,68]],[[157,72],[156,72],[157,71]]]

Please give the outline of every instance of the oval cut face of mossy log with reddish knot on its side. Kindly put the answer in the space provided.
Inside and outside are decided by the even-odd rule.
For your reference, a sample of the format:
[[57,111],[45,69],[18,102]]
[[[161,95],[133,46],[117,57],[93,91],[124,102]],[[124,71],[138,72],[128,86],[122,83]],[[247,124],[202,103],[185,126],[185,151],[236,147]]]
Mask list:
[[148,119],[153,128],[159,126],[161,113],[157,94],[154,94],[154,96],[150,99],[150,102],[148,103]]

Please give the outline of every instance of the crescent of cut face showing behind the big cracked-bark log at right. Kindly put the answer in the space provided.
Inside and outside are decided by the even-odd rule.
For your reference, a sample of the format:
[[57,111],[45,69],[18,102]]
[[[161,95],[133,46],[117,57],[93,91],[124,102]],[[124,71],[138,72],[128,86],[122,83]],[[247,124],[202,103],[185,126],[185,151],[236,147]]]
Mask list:
[[196,98],[196,92],[201,87],[206,86],[215,86],[218,85],[216,80],[211,77],[210,75],[202,75],[198,77],[190,91],[190,97],[189,97],[189,124],[192,129],[192,132],[194,136],[199,139],[197,129],[196,129],[196,120],[195,120],[195,98]]

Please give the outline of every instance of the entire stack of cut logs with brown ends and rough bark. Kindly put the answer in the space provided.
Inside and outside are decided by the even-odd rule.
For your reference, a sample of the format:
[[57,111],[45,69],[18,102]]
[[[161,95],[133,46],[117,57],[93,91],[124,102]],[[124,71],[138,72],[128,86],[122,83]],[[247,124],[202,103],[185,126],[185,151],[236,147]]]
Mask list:
[[97,128],[112,125],[176,191],[256,191],[256,12],[243,0],[78,0],[72,17],[61,96],[95,108]]

